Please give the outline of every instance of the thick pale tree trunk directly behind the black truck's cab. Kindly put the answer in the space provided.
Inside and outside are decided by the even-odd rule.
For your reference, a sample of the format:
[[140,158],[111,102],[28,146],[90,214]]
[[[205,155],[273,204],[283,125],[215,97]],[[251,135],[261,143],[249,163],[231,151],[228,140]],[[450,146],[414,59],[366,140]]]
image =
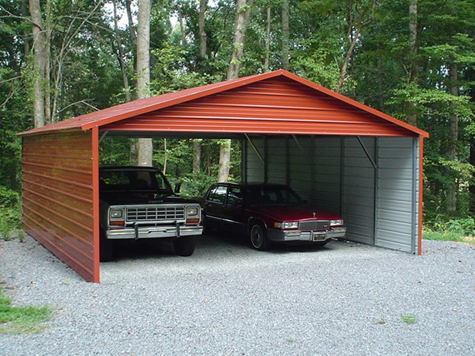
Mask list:
[[[150,96],[150,0],[138,1],[137,25],[137,97]],[[152,165],[152,140],[139,138],[137,140],[137,164]]]

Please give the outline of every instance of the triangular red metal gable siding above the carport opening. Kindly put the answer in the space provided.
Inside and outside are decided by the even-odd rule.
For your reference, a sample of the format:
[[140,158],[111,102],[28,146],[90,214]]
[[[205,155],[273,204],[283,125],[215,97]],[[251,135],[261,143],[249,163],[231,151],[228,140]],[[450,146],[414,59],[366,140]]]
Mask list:
[[105,125],[112,131],[413,136],[287,78],[271,78]]

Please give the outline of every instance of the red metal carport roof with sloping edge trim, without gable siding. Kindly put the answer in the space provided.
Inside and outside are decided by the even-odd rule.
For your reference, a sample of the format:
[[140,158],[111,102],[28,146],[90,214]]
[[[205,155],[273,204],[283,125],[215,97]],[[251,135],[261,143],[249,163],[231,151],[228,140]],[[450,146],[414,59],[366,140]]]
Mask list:
[[[332,98],[332,101],[335,101],[336,99],[336,101],[340,102],[342,105],[345,105],[347,107],[348,106],[353,107],[359,112],[363,111],[366,113],[366,115],[370,114],[370,115],[367,115],[368,117],[375,117],[379,119],[378,121],[380,121],[380,119],[383,119],[383,121],[386,121],[387,124],[392,124],[391,126],[394,126],[394,125],[399,126],[399,130],[401,131],[407,130],[411,132],[413,135],[417,134],[423,137],[429,136],[427,132],[418,129],[417,127],[411,126],[405,122],[395,119],[378,110],[372,109],[364,104],[358,103],[341,94],[328,90],[327,88],[321,85],[312,83],[311,81],[303,79],[283,69],[279,69],[273,72],[268,72],[268,73],[263,73],[263,74],[251,75],[251,76],[242,77],[242,78],[233,79],[233,80],[226,80],[219,83],[198,86],[198,87],[185,89],[185,90],[175,92],[175,93],[163,94],[156,97],[135,100],[132,102],[116,105],[107,109],[99,110],[90,114],[81,115],[72,119],[59,121],[59,122],[46,125],[40,128],[24,131],[20,133],[19,135],[32,135],[32,134],[37,134],[37,133],[66,130],[66,129],[88,130],[93,127],[101,128],[105,125],[107,125],[108,128],[112,128],[112,126],[119,125],[119,121],[124,120],[124,119],[137,117],[137,116],[143,117],[143,115],[153,112],[153,111],[156,112],[157,110],[160,110],[160,109],[170,108],[178,104],[187,103],[196,99],[200,99],[200,98],[208,97],[208,96],[218,94],[221,92],[229,91],[234,88],[239,88],[239,87],[253,84],[256,82],[261,82],[266,79],[278,78],[279,76],[293,80],[297,83],[303,84],[311,88],[312,90],[318,92],[319,95],[324,94],[326,96],[329,96]],[[269,110],[272,110],[272,108],[269,108]],[[246,118],[239,118],[234,123],[234,126],[235,125],[239,126],[239,120],[246,120]],[[178,131],[185,132],[187,130],[191,131],[192,129],[196,130],[197,126],[199,126],[199,122],[197,122],[196,124],[197,125],[192,125],[192,127],[190,127],[189,129],[187,129],[185,126],[183,130],[178,130]],[[203,124],[205,125],[206,122],[203,122]],[[244,130],[247,132],[249,122],[246,122],[245,124],[246,124],[245,126],[242,125],[241,130]],[[272,127],[272,123],[269,123],[269,125],[271,125],[270,127]],[[331,123],[327,123],[327,125],[331,125]],[[236,131],[237,129],[238,127],[236,127],[234,131]],[[286,133],[287,131],[289,131],[288,133],[299,133],[297,131],[292,131],[291,127],[282,128],[282,129],[283,130],[279,130],[281,133]],[[358,134],[357,128],[355,131],[354,130],[355,128],[351,128],[351,133],[357,135]],[[204,130],[197,130],[197,131],[207,131],[207,130],[204,129]],[[270,131],[272,131],[272,129]],[[266,133],[270,131],[264,130],[262,131],[262,133]],[[253,132],[259,132],[259,129]],[[302,132],[302,133],[305,133],[305,132]],[[345,134],[345,133],[342,132],[341,134]]]

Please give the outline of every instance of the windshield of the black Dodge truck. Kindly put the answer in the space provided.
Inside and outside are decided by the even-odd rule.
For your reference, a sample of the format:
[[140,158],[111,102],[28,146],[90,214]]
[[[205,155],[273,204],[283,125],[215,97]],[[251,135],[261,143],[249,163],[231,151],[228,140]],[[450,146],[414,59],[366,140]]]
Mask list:
[[103,170],[102,192],[153,191],[172,194],[172,187],[160,172],[150,170]]

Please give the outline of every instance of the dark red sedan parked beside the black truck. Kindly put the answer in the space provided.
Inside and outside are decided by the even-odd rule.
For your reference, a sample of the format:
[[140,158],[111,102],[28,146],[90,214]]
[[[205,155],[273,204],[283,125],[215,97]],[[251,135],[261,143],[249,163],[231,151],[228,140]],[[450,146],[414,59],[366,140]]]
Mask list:
[[205,229],[246,234],[258,250],[271,242],[324,245],[346,233],[340,215],[307,206],[283,185],[216,183],[202,205]]

